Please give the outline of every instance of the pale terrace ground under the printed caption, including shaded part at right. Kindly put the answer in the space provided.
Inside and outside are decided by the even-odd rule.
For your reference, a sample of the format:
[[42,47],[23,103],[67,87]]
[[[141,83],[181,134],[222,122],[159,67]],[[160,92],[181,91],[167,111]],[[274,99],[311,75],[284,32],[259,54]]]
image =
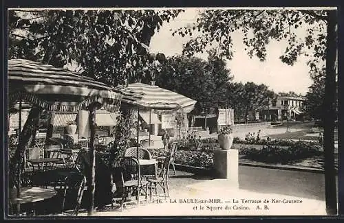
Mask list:
[[108,206],[94,215],[325,215],[323,174],[240,166],[239,188],[226,179],[180,171],[171,174],[169,186],[169,199],[128,205],[123,211]]

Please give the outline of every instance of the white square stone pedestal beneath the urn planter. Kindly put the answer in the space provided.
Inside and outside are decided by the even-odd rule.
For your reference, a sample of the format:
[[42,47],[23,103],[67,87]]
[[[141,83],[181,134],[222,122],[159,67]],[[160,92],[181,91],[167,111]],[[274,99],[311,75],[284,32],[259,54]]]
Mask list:
[[215,173],[219,178],[226,178],[233,187],[239,187],[239,150],[215,150]]

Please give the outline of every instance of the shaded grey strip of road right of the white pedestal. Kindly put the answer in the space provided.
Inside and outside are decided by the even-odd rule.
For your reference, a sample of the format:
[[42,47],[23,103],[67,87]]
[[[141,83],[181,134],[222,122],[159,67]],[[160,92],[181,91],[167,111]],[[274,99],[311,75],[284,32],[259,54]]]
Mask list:
[[312,172],[239,166],[239,188],[325,200],[324,174]]

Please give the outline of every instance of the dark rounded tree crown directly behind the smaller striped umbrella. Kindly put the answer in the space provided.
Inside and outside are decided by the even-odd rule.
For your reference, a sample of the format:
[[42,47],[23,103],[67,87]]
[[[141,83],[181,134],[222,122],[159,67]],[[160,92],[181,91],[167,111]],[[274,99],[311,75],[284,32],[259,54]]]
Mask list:
[[210,56],[206,61],[173,56],[167,58],[155,80],[164,89],[195,99],[194,113],[200,114],[202,110],[212,113],[211,108],[224,105],[226,83],[231,79],[230,70],[219,58]]

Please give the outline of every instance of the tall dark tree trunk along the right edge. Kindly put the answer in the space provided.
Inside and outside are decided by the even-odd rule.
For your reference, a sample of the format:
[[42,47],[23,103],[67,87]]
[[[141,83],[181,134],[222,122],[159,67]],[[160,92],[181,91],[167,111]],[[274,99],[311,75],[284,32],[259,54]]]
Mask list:
[[336,106],[336,11],[327,11],[327,18],[326,78],[325,96],[323,102],[325,200],[327,214],[336,215],[336,172],[334,169],[334,119]]

